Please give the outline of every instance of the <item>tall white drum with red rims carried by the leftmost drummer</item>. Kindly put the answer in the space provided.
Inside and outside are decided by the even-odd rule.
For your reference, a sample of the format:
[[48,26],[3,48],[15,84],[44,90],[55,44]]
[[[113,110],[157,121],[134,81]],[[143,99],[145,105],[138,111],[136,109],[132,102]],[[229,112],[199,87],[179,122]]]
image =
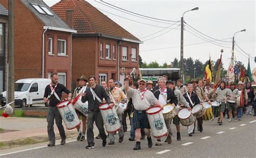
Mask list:
[[60,102],[57,104],[57,107],[67,130],[72,130],[73,128],[80,126],[81,123],[77,117],[75,109],[68,100]]

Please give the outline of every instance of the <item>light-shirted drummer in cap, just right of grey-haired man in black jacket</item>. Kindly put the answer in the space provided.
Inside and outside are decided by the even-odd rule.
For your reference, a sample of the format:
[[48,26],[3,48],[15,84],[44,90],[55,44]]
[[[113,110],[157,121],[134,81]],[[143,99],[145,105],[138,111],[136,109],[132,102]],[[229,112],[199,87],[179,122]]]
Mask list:
[[[175,107],[175,110],[176,110],[177,114],[179,113],[179,107],[180,106],[181,107],[185,106],[185,107],[187,107],[188,110],[192,110],[191,107],[190,107],[190,104],[188,104],[186,99],[183,97],[183,95],[181,94],[181,91],[176,89],[175,84],[172,80],[167,81],[167,86],[174,91],[174,94],[176,95],[176,97],[178,99],[178,105]],[[179,120],[178,115],[176,115],[173,118],[172,123],[176,126],[177,140],[181,140],[181,137],[180,137],[180,120]]]

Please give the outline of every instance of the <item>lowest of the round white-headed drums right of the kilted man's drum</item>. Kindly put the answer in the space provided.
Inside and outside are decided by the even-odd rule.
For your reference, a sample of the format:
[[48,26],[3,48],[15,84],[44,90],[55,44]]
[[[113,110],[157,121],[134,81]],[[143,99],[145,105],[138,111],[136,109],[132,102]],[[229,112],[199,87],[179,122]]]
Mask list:
[[190,126],[194,123],[193,114],[187,108],[179,110],[178,117],[183,126]]

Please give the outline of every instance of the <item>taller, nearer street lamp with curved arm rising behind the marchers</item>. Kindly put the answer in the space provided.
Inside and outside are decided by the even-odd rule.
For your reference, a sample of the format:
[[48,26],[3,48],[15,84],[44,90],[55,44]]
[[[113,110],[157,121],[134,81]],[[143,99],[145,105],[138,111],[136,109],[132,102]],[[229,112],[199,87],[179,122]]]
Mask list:
[[[193,10],[198,10],[199,8],[196,7],[196,8],[193,8],[191,10],[188,10],[188,11],[193,11]],[[188,11],[185,11],[181,17],[181,35],[180,35],[180,70],[181,70],[181,80],[183,80],[183,82],[185,81],[185,78],[184,78],[184,65],[183,65],[183,29],[184,29],[184,21],[183,21],[183,17],[184,17],[184,14]]]

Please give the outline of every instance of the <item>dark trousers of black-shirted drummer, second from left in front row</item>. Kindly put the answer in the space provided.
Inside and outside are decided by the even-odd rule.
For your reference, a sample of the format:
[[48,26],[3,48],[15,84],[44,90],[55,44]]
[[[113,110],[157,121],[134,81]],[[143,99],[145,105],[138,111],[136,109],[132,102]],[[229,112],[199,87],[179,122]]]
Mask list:
[[102,119],[102,115],[100,114],[100,111],[92,112],[89,111],[88,117],[87,117],[87,142],[88,145],[94,145],[94,134],[93,134],[93,123],[95,121],[95,124],[99,130],[99,135],[102,140],[106,140],[107,135],[105,133],[104,129],[104,123]]

